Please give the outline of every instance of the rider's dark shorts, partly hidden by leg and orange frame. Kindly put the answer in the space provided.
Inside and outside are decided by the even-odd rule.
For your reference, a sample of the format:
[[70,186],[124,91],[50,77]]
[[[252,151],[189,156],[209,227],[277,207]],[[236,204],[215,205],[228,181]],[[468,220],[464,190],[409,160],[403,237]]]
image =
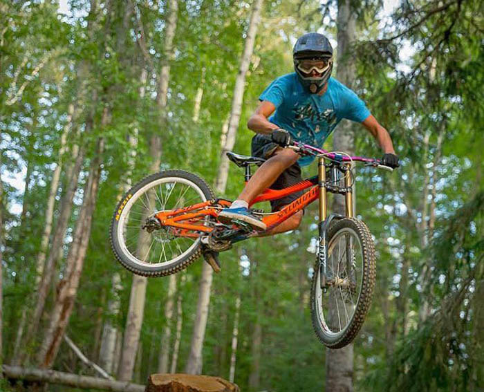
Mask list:
[[[277,147],[279,147],[279,144],[272,142],[270,137],[261,135],[260,133],[252,138],[252,156],[268,159],[274,154]],[[301,181],[301,167],[296,162],[294,165],[284,170],[279,177],[277,177],[274,183],[270,186],[270,189],[287,188],[290,187],[290,185],[295,185]],[[277,200],[271,200],[270,205],[272,207],[272,212],[279,211],[279,209],[292,203],[292,201],[299,198],[302,194],[304,194],[304,191],[295,192],[289,196],[278,198]]]

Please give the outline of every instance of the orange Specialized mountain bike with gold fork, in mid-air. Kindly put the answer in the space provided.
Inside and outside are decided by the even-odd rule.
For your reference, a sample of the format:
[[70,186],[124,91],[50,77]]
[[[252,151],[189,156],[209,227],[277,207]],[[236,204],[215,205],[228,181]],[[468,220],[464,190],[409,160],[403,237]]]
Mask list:
[[[320,341],[341,348],[353,341],[369,310],[375,285],[375,245],[368,227],[353,212],[352,171],[354,162],[380,167],[375,158],[348,156],[294,142],[288,148],[301,156],[317,158],[317,175],[285,189],[266,189],[252,205],[307,191],[273,213],[252,209],[267,229],[319,201],[319,244],[313,268],[310,312]],[[265,160],[227,153],[245,169]],[[345,214],[328,214],[328,192],[344,195]],[[236,242],[263,234],[241,221],[227,225],[218,221],[221,209],[232,201],[214,196],[205,181],[182,170],[167,170],[148,176],[122,198],[111,222],[111,247],[120,263],[135,274],[161,277],[186,268],[201,254],[212,265],[214,252],[223,252]]]

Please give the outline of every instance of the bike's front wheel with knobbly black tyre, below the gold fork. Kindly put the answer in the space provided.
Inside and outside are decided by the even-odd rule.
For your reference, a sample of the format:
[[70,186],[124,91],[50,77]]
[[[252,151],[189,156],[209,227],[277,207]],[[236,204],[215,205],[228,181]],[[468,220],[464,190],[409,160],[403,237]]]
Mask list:
[[333,223],[326,241],[326,287],[317,261],[311,285],[311,319],[323,344],[342,348],[353,341],[371,305],[375,245],[368,227],[354,218]]

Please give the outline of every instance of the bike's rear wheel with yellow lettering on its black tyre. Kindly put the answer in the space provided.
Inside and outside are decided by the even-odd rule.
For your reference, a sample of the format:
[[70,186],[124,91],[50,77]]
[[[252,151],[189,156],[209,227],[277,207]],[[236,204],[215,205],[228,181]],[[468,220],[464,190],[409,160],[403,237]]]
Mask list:
[[169,227],[152,232],[142,227],[156,212],[212,198],[207,183],[188,171],[161,171],[143,179],[124,195],[111,221],[111,248],[116,258],[131,272],[145,277],[183,270],[201,255],[200,237],[176,236]]

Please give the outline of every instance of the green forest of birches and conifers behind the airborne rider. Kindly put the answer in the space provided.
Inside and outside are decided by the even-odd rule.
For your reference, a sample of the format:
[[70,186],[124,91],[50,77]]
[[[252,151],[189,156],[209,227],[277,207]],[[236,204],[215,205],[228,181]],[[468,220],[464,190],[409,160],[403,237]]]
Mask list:
[[[482,9],[470,0],[1,0],[0,363],[100,377],[75,346],[138,383],[187,371],[242,391],[322,391],[330,376],[346,391],[482,391]],[[346,373],[334,375],[308,309],[315,206],[295,232],[221,254],[213,277],[198,261],[176,277],[136,278],[109,245],[122,193],[159,168],[238,194],[241,169],[220,183],[224,152],[250,153],[257,97],[292,72],[292,45],[313,30],[340,51],[333,76],[351,70],[347,84],[402,160],[392,174],[356,172],[378,277]],[[348,150],[381,155],[362,127],[341,127]]]

